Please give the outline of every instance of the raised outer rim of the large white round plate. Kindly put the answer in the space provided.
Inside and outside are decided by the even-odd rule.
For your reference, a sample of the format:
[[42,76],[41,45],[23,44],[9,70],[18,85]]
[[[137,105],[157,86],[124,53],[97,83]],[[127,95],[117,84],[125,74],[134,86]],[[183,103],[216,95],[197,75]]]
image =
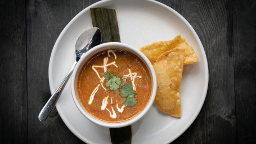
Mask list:
[[[73,19],[71,19],[69,21],[69,23],[65,26],[65,28],[61,31],[59,37],[57,38],[53,48],[52,48],[52,52],[51,52],[51,56],[50,56],[50,61],[49,61],[49,68],[48,68],[48,79],[49,79],[49,85],[50,85],[50,91],[51,93],[53,93],[55,91],[55,89],[53,89],[53,80],[51,79],[52,77],[52,73],[50,73],[50,71],[52,71],[52,68],[53,68],[53,56],[55,56],[55,53],[57,51],[57,45],[59,45],[60,43],[60,39],[63,37],[66,29],[69,28],[69,26],[75,21],[77,20],[77,18],[82,15],[85,11],[87,11],[89,8],[91,7],[95,7],[97,6],[98,4],[102,4],[102,3],[107,3],[107,2],[111,2],[111,1],[118,1],[118,0],[105,0],[105,1],[99,1],[99,2],[96,2],[96,3],[93,3],[91,4],[90,6],[84,8],[82,11],[80,11],[77,15],[75,15],[75,17],[73,17]],[[154,4],[158,4],[160,5],[161,7],[164,7],[164,8],[167,8],[170,12],[173,12],[174,15],[176,15],[177,17],[179,17],[179,19],[181,19],[185,24],[186,26],[188,26],[189,29],[191,29],[191,32],[192,34],[195,35],[195,39],[196,39],[196,42],[199,44],[199,49],[200,51],[202,52],[202,61],[203,61],[203,65],[204,65],[204,71],[205,71],[205,85],[204,85],[204,88],[203,88],[203,97],[200,101],[200,106],[197,108],[198,110],[196,111],[196,114],[194,115],[193,118],[191,118],[187,125],[185,127],[183,127],[183,129],[176,134],[176,136],[174,136],[173,138],[170,138],[169,141],[165,142],[165,143],[170,143],[170,142],[173,142],[174,140],[176,140],[179,136],[181,136],[181,134],[183,134],[189,127],[190,125],[195,121],[195,119],[197,118],[197,116],[199,115],[200,111],[201,111],[201,108],[203,107],[204,105],[204,101],[205,101],[205,97],[206,97],[206,94],[207,94],[207,91],[208,91],[208,84],[209,84],[209,69],[208,69],[208,61],[207,61],[207,58],[206,58],[206,54],[205,54],[205,51],[204,51],[204,47],[203,47],[203,44],[201,43],[201,40],[199,39],[196,31],[194,30],[194,28],[192,28],[192,26],[190,25],[190,23],[181,15],[179,14],[177,11],[173,10],[173,8],[161,3],[161,2],[158,2],[158,1],[152,1],[152,0],[133,0],[133,1],[146,1],[146,2],[151,2],[151,3],[154,3]],[[69,130],[75,134],[75,136],[77,136],[80,140],[84,141],[84,142],[87,142],[87,143],[93,143],[92,141],[90,141],[89,139],[87,138],[84,138],[79,132],[77,132],[73,127],[71,127],[71,125],[69,124],[69,122],[66,120],[66,119],[63,119],[62,118],[62,113],[60,113],[60,111],[58,110],[58,105],[56,105],[56,109],[62,119],[62,121],[65,123],[65,125],[69,128]]]

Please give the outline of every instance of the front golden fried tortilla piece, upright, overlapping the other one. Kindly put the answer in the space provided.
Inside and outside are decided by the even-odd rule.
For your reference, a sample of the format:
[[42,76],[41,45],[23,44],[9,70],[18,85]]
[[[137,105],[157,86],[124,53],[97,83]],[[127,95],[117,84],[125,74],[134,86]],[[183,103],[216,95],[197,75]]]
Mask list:
[[158,90],[155,103],[164,113],[177,118],[181,117],[181,99],[179,86],[181,85],[185,50],[174,49],[163,53],[154,63]]

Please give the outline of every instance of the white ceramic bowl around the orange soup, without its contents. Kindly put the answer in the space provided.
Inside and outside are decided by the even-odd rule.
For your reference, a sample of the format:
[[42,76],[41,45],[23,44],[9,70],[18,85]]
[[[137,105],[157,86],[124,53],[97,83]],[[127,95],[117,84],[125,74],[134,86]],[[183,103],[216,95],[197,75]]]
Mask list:
[[[91,59],[91,57],[93,55],[95,55],[96,53],[105,51],[105,50],[110,50],[110,49],[126,50],[128,52],[133,53],[133,55],[137,56],[138,58],[140,58],[142,60],[142,62],[145,63],[145,65],[149,69],[151,79],[152,79],[151,97],[150,97],[150,100],[149,100],[148,104],[146,105],[145,109],[143,109],[140,114],[134,116],[132,119],[126,120],[124,122],[118,122],[118,123],[113,123],[113,122],[107,123],[107,122],[99,120],[99,119],[95,118],[94,116],[92,116],[91,114],[89,114],[84,109],[83,105],[80,103],[80,100],[78,98],[77,91],[76,91],[78,74],[79,74],[80,70],[82,69],[83,65],[85,64],[85,62],[87,62],[87,60]],[[125,127],[125,126],[131,125],[131,124],[137,122],[139,119],[141,119],[143,117],[143,115],[145,115],[147,113],[147,111],[149,110],[149,108],[151,107],[151,105],[153,104],[153,102],[155,100],[156,87],[157,86],[156,86],[155,70],[154,70],[153,66],[151,65],[149,59],[147,59],[147,57],[145,55],[143,55],[143,53],[141,51],[137,50],[136,48],[129,46],[127,44],[118,43],[118,42],[110,42],[110,43],[100,44],[100,45],[92,48],[91,50],[89,50],[87,53],[84,53],[84,55],[78,61],[77,66],[75,66],[75,69],[74,69],[73,75],[72,75],[72,79],[71,79],[71,92],[72,92],[72,96],[73,96],[75,105],[77,106],[79,111],[84,116],[86,116],[87,119],[91,120],[92,122],[102,125],[104,127],[109,127],[109,128]]]

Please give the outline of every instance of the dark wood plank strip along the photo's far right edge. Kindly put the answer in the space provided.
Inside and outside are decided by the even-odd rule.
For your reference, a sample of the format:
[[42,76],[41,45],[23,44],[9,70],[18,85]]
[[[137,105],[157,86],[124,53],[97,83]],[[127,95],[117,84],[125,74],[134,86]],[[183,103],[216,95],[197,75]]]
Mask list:
[[256,1],[233,3],[237,143],[256,143]]

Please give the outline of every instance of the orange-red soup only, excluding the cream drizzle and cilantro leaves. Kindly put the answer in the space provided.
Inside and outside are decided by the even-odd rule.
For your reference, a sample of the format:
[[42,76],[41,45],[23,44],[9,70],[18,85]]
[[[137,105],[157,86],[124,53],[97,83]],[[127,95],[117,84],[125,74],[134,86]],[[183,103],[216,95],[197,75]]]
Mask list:
[[[95,118],[100,119],[105,122],[124,122],[125,120],[129,120],[134,116],[138,115],[149,102],[151,91],[152,91],[152,82],[151,75],[149,70],[143,64],[143,62],[138,59],[138,57],[134,56],[132,53],[124,51],[124,50],[111,50],[115,53],[116,59],[112,52],[103,51],[97,53],[91,59],[89,59],[86,64],[84,64],[82,70],[78,75],[77,80],[77,93],[80,102],[82,103],[84,109],[88,111],[89,114],[93,115]],[[109,87],[106,87],[107,80],[104,79],[102,82],[102,86],[104,86],[107,90],[105,90],[101,86],[100,78],[104,77],[104,68],[95,68],[98,72],[93,71],[92,66],[103,66],[104,58],[108,58],[107,63],[115,61],[115,65],[107,66],[107,71],[113,71],[115,77],[122,77],[122,82],[120,84],[120,88],[124,86],[125,83],[132,84],[131,78],[124,78],[124,75],[129,74],[129,69],[131,73],[137,73],[137,76],[141,76],[141,78],[134,78],[134,85],[136,87],[136,100],[137,104],[134,106],[125,106],[122,113],[120,113],[116,107],[118,104],[119,108],[121,108],[126,100],[126,98],[120,96],[120,88],[117,91],[110,91]],[[88,104],[90,96],[95,88],[98,87],[98,91],[95,93],[93,101],[91,105]],[[111,114],[113,114],[113,110],[115,111],[116,118],[111,118],[109,111],[107,109],[101,110],[102,101],[105,97],[107,97],[108,104],[106,108],[110,110]],[[111,104],[112,99],[112,104]]]

